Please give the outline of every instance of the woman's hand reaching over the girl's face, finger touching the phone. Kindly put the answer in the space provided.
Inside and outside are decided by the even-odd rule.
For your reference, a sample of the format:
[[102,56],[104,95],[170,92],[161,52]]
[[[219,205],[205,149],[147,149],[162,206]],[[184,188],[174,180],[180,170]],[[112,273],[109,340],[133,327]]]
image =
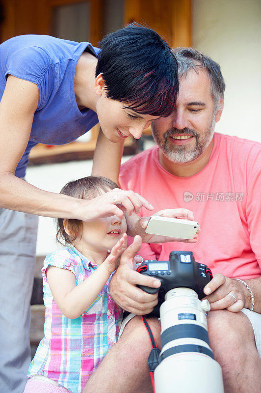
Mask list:
[[73,218],[89,222],[115,215],[122,220],[125,211],[130,216],[133,212],[139,213],[142,206],[148,210],[154,209],[147,199],[139,194],[115,188],[90,200],[78,199],[78,206]]

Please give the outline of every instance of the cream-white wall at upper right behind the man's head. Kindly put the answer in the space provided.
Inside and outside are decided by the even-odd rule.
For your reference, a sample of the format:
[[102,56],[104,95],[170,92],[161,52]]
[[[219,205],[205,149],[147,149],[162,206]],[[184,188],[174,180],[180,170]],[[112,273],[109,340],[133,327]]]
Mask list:
[[216,131],[261,141],[261,1],[193,0],[193,47],[221,66],[225,107]]

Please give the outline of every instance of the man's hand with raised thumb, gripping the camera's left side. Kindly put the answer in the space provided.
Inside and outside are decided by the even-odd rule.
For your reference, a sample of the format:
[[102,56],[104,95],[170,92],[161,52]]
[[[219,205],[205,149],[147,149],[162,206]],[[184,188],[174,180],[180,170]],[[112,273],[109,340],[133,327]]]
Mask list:
[[133,243],[122,254],[118,269],[110,282],[110,294],[115,303],[122,309],[137,315],[151,312],[157,305],[157,293],[151,295],[136,285],[153,288],[160,286],[160,281],[136,272],[134,257],[141,247],[140,236],[135,236]]

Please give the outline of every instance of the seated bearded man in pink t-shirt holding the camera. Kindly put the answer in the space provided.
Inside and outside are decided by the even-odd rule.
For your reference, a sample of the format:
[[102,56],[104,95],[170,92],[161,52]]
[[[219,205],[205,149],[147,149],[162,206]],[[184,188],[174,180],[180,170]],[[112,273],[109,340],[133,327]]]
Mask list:
[[[153,123],[157,146],[122,166],[120,184],[148,198],[155,212],[184,205],[194,212],[201,225],[198,243],[143,245],[139,254],[166,260],[172,250],[189,250],[209,266],[215,275],[205,288],[211,305],[209,340],[222,367],[225,392],[256,393],[261,386],[261,144],[214,134],[224,105],[220,67],[193,49],[175,53],[177,106],[169,117]],[[141,215],[146,214],[142,208]],[[115,302],[137,315],[149,312],[154,301],[153,295],[135,287],[141,279],[131,262],[139,247],[136,241],[126,251],[110,287]],[[155,286],[149,277],[146,285]],[[150,325],[159,342],[158,321],[151,319]],[[152,392],[150,350],[148,334],[136,316],[86,392]]]

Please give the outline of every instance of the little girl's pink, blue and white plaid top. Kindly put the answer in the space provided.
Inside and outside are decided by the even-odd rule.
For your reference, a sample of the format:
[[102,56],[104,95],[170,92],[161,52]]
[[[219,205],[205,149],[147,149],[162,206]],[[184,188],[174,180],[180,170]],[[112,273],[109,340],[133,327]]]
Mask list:
[[48,285],[48,266],[69,269],[78,285],[97,269],[75,248],[48,254],[42,269],[45,304],[45,337],[32,360],[28,377],[39,374],[58,382],[73,393],[82,392],[88,379],[117,341],[122,310],[109,294],[109,280],[93,304],[78,318],[65,317],[53,300]]

